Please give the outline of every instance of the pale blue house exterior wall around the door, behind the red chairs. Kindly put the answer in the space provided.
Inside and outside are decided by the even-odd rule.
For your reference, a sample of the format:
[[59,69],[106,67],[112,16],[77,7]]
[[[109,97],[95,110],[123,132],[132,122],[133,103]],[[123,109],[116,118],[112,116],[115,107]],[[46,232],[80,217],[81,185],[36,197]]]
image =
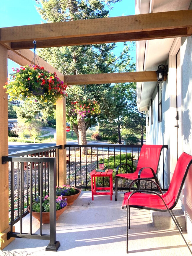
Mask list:
[[[176,46],[175,46],[176,45]],[[152,95],[153,124],[151,124],[151,102],[146,118],[146,144],[168,145],[165,158],[165,186],[168,187],[177,161],[177,128],[176,125],[176,61],[175,56],[180,48],[181,65],[181,124],[179,124],[181,143],[178,145],[178,156],[181,152],[192,155],[192,37],[175,39],[170,50],[167,64],[169,74],[162,83],[162,122],[158,122],[157,86]],[[149,121],[148,121],[149,115]],[[149,124],[148,124],[149,123]],[[170,171],[169,171],[170,170]],[[160,177],[160,176],[159,176]],[[162,184],[162,178],[160,179]],[[182,209],[186,216],[188,238],[192,241],[192,168],[190,168],[183,191],[180,196]]]

